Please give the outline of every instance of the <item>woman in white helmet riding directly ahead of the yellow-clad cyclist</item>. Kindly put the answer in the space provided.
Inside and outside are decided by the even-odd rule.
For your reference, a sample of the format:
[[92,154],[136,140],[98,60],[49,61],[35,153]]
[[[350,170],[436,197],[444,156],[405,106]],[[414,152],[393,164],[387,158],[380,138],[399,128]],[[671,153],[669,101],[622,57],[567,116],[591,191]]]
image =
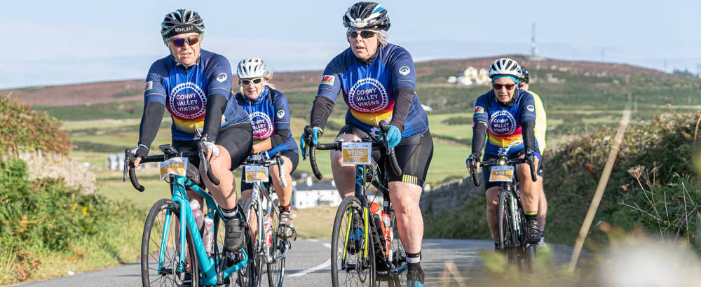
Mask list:
[[[533,158],[536,167],[540,162],[538,142],[533,133],[536,125],[536,109],[533,96],[525,90],[517,89],[522,77],[521,66],[509,58],[501,58],[489,66],[489,77],[494,90],[482,94],[475,102],[475,112],[472,116],[472,154],[468,157],[467,165],[475,161],[479,167],[479,156],[486,148],[484,159],[496,158],[500,153],[506,153],[509,158]],[[485,137],[487,136],[488,137]],[[496,208],[498,204],[498,186],[489,183],[490,169],[484,169],[486,188],[486,219],[489,224],[491,237],[498,246],[498,219]],[[516,176],[519,180],[519,190],[526,213],[526,239],[531,244],[538,243],[540,232],[538,228],[538,190],[537,185],[543,181],[537,176],[537,182],[531,181],[528,164],[517,165]]]

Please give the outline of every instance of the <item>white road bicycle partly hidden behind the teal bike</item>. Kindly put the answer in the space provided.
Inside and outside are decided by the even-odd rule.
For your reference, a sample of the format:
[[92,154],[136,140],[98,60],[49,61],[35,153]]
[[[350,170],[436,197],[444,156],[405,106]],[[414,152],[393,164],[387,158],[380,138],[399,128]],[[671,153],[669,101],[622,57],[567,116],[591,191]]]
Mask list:
[[291,244],[289,239],[278,235],[280,202],[271,196],[275,190],[268,176],[268,167],[277,165],[280,183],[283,187],[287,187],[283,174],[283,160],[280,158],[280,153],[275,154],[275,160],[270,160],[267,153],[259,153],[251,155],[242,165],[245,167],[245,181],[253,183],[251,197],[243,204],[243,210],[250,230],[256,230],[254,233],[257,235],[247,246],[252,262],[246,268],[239,270],[239,276],[250,279],[249,286],[260,286],[263,274],[266,272],[268,286],[283,286],[285,256]]

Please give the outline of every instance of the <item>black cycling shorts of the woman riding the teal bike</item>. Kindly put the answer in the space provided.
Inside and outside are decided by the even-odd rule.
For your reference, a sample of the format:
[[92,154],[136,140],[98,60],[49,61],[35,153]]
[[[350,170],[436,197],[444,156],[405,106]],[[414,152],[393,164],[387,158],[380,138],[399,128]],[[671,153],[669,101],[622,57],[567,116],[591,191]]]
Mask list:
[[[197,143],[199,140],[181,141],[173,139],[173,146],[177,151],[197,151]],[[248,158],[253,151],[253,127],[251,123],[239,123],[230,125],[219,130],[217,141],[215,144],[224,146],[226,151],[231,155],[231,170],[236,169],[241,163]],[[195,165],[200,165],[199,158],[191,160]]]

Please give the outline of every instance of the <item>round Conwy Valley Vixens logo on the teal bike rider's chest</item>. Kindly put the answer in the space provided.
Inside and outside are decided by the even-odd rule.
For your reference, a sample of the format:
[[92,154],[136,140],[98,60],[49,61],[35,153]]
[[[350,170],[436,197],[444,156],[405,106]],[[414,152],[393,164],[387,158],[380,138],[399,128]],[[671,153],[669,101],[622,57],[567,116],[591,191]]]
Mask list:
[[176,85],[170,90],[168,111],[180,120],[194,120],[205,117],[207,97],[205,92],[192,82]]

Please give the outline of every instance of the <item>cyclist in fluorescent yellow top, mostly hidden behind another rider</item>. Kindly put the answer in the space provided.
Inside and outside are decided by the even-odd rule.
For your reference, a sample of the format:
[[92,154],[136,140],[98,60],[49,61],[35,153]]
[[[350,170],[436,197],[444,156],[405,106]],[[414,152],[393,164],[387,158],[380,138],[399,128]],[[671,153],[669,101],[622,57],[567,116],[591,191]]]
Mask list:
[[[533,101],[536,103],[536,127],[533,128],[533,132],[536,133],[536,140],[538,141],[538,151],[540,151],[540,166],[538,166],[538,175],[543,176],[543,152],[545,151],[545,130],[547,130],[547,120],[545,116],[545,108],[543,107],[543,101],[540,100],[540,96],[530,90],[531,87],[531,77],[529,76],[528,69],[525,66],[521,66],[521,80],[519,81],[519,89],[526,90],[533,96]],[[545,198],[545,190],[543,190],[543,181],[538,181],[536,184],[538,188],[538,227],[540,228],[540,241],[538,242],[538,247],[545,246],[545,215],[547,214],[547,198]]]

